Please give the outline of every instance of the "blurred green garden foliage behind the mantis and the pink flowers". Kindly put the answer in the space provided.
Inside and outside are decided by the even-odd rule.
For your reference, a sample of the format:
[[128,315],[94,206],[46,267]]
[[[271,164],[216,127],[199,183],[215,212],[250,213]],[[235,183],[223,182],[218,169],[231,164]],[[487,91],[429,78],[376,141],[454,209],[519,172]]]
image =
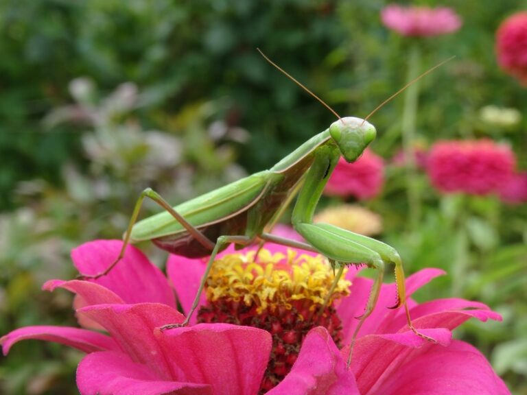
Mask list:
[[[408,273],[448,272],[417,300],[469,298],[501,313],[503,322],[472,320],[455,335],[484,352],[513,393],[527,394],[527,204],[442,193],[417,156],[405,160],[440,140],[485,138],[527,171],[527,88],[495,54],[497,27],[527,1],[416,4],[452,7],[462,27],[401,36],[383,25],[388,2],[379,0],[0,1],[0,334],[75,326],[71,296],[41,285],[75,275],[71,248],[119,238],[145,187],[184,202],[271,167],[336,120],[256,47],[340,115],[357,117],[406,84],[418,51],[419,73],[456,58],[413,86],[418,105],[403,93],[370,119],[382,189],[333,194],[320,208],[366,208]],[[141,215],[157,211],[148,203]],[[164,252],[141,248],[164,265]],[[0,393],[73,394],[81,357],[22,342],[0,357]]]

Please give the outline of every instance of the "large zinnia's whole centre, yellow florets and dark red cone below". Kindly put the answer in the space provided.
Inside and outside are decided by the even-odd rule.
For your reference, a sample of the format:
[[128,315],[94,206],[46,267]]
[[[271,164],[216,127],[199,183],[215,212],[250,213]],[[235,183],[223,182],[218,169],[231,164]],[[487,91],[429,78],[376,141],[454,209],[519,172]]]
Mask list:
[[309,329],[325,326],[340,346],[342,325],[333,301],[349,295],[351,283],[342,276],[328,296],[335,277],[322,256],[295,250],[285,256],[262,249],[255,262],[255,254],[230,254],[215,261],[198,322],[255,326],[271,333],[271,358],[261,384],[266,392],[291,370]]

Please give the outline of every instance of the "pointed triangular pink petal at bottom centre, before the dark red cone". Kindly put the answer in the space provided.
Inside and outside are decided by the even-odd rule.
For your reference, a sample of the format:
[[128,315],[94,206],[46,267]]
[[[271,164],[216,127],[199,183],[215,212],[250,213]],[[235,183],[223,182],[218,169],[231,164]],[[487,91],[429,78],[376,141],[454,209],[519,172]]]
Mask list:
[[326,329],[319,326],[305,337],[291,372],[269,395],[359,394],[355,377]]

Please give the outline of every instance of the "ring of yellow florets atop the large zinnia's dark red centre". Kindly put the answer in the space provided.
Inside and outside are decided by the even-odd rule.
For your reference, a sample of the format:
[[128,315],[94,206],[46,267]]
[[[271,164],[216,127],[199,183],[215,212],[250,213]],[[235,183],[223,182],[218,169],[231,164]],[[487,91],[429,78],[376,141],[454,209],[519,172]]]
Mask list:
[[[259,253],[258,263],[253,261],[255,252],[230,254],[215,261],[207,280],[207,298],[214,302],[229,298],[246,305],[255,304],[257,311],[274,311],[277,307],[291,308],[293,300],[305,300],[309,311],[324,303],[331,283],[333,270],[322,256],[298,254],[288,250],[287,256],[272,254],[266,249]],[[349,295],[351,283],[342,276],[329,304]]]

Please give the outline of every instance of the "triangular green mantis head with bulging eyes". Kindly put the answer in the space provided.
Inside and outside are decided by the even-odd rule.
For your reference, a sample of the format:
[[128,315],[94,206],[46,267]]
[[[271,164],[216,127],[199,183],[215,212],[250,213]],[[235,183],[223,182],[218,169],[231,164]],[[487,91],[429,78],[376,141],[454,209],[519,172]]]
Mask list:
[[377,130],[364,119],[345,117],[331,123],[329,134],[338,145],[344,159],[351,163],[355,162],[375,139]]

